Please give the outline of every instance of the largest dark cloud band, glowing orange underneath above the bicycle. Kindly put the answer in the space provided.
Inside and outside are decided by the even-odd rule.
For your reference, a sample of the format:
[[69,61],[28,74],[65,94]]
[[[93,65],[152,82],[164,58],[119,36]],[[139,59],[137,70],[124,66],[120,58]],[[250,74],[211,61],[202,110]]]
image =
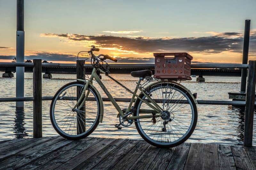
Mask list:
[[[153,52],[194,52],[212,54],[221,52],[242,53],[243,34],[235,32],[212,33],[204,37],[120,37],[120,36],[91,36],[81,34],[54,34],[47,33],[41,36],[66,38],[81,44],[95,44],[99,48],[123,51],[129,54],[147,54]],[[89,46],[88,46],[89,47]],[[250,53],[256,55],[256,31],[251,32]]]

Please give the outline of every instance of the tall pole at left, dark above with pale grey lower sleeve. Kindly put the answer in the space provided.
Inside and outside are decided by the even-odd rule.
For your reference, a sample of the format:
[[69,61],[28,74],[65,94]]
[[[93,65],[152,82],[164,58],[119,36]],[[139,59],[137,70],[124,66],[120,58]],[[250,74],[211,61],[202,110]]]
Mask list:
[[[16,61],[19,63],[24,63],[24,44],[24,0],[17,0]],[[24,67],[16,67],[16,97],[24,97]],[[24,102],[16,102],[16,107],[24,107]]]

